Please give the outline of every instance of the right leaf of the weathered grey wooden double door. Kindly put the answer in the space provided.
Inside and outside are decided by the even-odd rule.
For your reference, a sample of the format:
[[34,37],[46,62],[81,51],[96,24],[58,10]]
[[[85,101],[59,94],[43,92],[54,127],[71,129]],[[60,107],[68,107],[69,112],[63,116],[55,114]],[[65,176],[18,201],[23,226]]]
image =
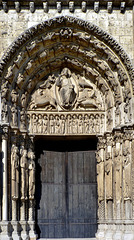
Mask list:
[[97,230],[95,153],[69,152],[68,169],[71,169],[68,172],[70,236],[94,236]]

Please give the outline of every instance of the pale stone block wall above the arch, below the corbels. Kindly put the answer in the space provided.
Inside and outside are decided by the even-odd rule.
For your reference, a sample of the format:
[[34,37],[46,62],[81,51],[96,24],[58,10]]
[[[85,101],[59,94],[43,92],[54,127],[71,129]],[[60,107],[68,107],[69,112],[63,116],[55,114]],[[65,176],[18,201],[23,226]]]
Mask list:
[[75,7],[74,12],[71,13],[67,6],[62,8],[61,13],[58,13],[56,7],[49,8],[48,13],[45,13],[43,9],[36,9],[34,13],[31,13],[29,9],[21,9],[19,13],[15,9],[9,9],[7,13],[1,9],[0,58],[23,31],[46,19],[62,15],[71,15],[90,21],[107,31],[124,48],[134,63],[132,8],[126,8],[124,13],[121,13],[119,8],[113,8],[111,13],[108,13],[106,8],[100,8],[99,12],[96,13],[93,8],[88,7],[86,12],[82,12],[80,7]]

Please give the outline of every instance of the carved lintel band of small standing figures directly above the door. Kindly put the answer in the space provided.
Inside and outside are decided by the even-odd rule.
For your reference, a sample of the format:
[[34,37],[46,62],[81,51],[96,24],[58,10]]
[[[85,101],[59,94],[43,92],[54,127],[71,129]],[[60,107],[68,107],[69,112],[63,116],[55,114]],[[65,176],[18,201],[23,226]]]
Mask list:
[[95,134],[104,131],[104,114],[32,114],[29,132],[42,134]]

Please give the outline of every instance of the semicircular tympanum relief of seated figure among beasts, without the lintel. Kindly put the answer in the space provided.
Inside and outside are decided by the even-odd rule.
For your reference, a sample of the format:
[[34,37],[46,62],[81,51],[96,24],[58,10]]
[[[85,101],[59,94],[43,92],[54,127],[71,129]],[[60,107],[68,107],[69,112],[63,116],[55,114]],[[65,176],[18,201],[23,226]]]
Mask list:
[[[26,106],[25,95],[22,95],[22,106]],[[32,94],[29,109],[103,110],[103,99],[100,91],[89,80],[63,68],[61,73],[49,75],[36,85]]]

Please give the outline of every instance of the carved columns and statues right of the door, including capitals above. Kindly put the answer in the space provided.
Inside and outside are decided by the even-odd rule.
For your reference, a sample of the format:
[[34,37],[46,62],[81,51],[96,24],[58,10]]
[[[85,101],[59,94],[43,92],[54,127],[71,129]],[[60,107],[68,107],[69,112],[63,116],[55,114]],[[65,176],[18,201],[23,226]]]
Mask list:
[[97,188],[99,219],[131,219],[133,204],[134,142],[130,134],[98,142]]

